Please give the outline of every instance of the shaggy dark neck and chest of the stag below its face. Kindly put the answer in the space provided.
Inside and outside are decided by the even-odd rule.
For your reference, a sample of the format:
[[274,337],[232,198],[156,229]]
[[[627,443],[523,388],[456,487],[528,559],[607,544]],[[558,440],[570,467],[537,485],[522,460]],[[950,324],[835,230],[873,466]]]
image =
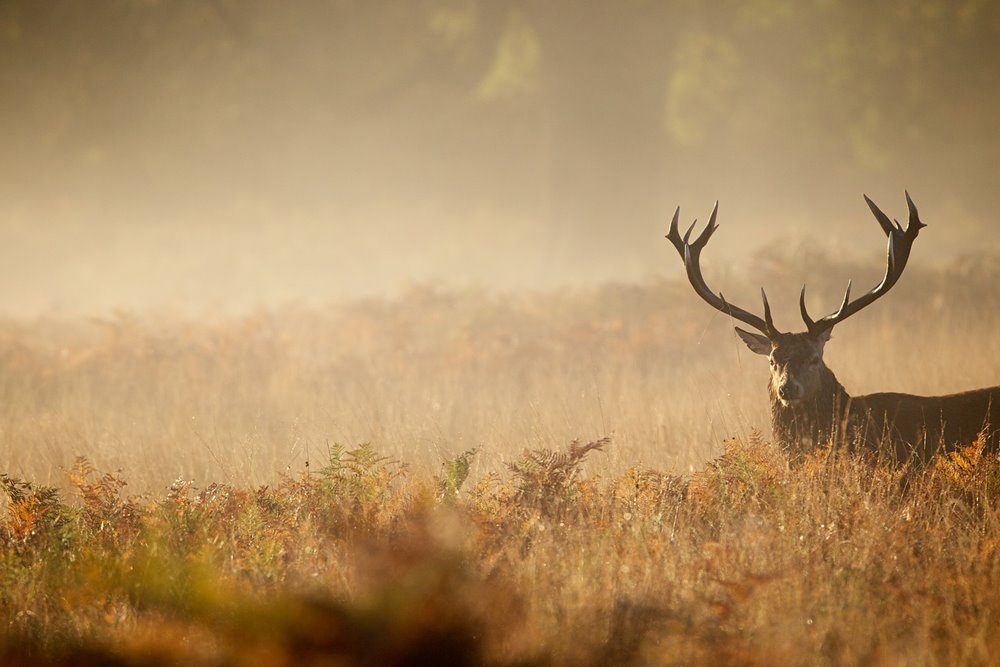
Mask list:
[[838,435],[847,421],[851,397],[829,368],[823,367],[820,388],[812,398],[784,405],[768,383],[771,430],[777,442],[798,458]]

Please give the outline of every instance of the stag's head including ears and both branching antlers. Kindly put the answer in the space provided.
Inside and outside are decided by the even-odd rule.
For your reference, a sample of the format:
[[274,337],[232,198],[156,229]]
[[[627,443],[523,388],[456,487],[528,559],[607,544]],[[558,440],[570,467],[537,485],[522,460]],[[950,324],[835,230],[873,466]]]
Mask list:
[[763,289],[761,289],[760,295],[764,304],[764,317],[761,318],[729,303],[721,292],[716,294],[705,283],[701,274],[701,251],[708,244],[708,240],[715,233],[715,230],[718,229],[715,222],[719,211],[718,202],[712,209],[712,217],[709,219],[708,225],[693,241],[691,240],[691,232],[694,230],[697,220],[691,223],[683,237],[677,228],[677,221],[680,217],[679,207],[670,223],[667,239],[684,260],[688,281],[698,296],[713,308],[760,332],[754,333],[736,327],[736,333],[747,344],[747,347],[757,354],[768,357],[771,364],[771,394],[784,407],[804,403],[817,395],[825,377],[830,374],[829,369],[823,363],[823,347],[830,340],[833,327],[862,308],[874,303],[896,284],[906,267],[906,261],[910,257],[913,240],[917,237],[920,229],[926,226],[920,222],[917,207],[910,199],[909,193],[906,193],[906,204],[909,208],[910,219],[906,229],[903,229],[898,222],[890,220],[867,196],[865,196],[865,201],[889,239],[885,276],[878,285],[854,300],[851,300],[851,284],[848,283],[840,308],[819,320],[813,320],[806,310],[806,288],[803,285],[799,294],[799,309],[806,325],[806,331],[801,333],[778,331],[771,319],[771,307]]

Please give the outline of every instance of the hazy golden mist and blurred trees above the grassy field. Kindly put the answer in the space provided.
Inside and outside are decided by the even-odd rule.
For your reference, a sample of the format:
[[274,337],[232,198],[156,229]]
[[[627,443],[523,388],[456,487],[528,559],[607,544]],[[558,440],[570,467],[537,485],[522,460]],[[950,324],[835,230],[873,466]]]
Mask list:
[[996,253],[998,33],[976,1],[6,0],[0,313],[676,277],[674,207],[716,199],[707,270],[875,276],[861,194],[904,188],[914,262]]

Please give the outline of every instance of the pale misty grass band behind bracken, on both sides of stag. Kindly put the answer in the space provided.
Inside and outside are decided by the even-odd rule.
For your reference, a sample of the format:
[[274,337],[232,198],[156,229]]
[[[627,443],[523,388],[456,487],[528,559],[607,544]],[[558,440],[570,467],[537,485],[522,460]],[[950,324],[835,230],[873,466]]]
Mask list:
[[[779,326],[879,267],[801,250],[755,258]],[[755,304],[745,275],[709,277]],[[848,390],[946,393],[1000,382],[1000,259],[908,269],[838,327],[828,362]],[[741,289],[742,288],[742,289]],[[135,490],[178,478],[257,484],[329,444],[372,443],[434,471],[476,448],[474,472],[523,447],[613,434],[599,462],[686,472],[732,436],[765,434],[766,367],[681,281],[498,293],[410,289],[391,301],[238,319],[0,322],[0,468],[61,483],[75,456]]]

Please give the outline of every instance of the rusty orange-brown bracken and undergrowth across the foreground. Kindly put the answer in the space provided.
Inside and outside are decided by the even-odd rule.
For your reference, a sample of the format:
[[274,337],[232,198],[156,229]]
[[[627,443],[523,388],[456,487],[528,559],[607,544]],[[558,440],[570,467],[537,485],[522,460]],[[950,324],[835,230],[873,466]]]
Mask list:
[[[925,470],[760,437],[681,478],[587,477],[608,440],[468,483],[371,446],[257,488],[132,497],[7,475],[5,664],[991,664],[1000,462]],[[318,468],[318,471],[317,471]]]

